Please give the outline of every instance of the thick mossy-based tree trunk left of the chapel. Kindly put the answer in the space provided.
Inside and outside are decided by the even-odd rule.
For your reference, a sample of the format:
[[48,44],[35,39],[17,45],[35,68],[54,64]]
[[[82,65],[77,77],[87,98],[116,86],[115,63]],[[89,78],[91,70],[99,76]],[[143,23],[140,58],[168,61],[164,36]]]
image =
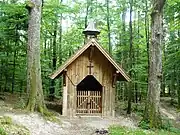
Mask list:
[[27,90],[29,92],[27,109],[45,113],[40,64],[41,5],[41,0],[30,0],[30,4],[27,5],[30,9],[27,48]]

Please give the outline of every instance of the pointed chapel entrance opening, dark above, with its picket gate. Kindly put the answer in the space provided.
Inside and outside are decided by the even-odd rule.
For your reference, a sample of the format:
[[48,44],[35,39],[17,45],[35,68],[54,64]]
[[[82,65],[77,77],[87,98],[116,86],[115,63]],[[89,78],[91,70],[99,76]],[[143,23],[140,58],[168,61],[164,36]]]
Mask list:
[[102,113],[102,85],[93,75],[87,75],[77,85],[77,115],[99,115]]

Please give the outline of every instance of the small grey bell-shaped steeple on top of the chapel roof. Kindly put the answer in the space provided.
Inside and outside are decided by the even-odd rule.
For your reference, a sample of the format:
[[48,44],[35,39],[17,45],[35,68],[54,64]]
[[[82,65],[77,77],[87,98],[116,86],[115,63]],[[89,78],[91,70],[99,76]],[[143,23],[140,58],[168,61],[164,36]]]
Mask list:
[[83,34],[89,38],[96,38],[100,34],[100,31],[96,29],[93,21],[89,22],[87,28],[83,31]]

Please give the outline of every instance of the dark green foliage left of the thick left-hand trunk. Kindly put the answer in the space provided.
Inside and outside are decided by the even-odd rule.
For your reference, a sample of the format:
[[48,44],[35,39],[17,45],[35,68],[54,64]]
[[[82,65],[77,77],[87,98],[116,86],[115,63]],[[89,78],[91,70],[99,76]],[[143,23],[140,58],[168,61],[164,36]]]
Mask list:
[[24,90],[27,19],[27,11],[24,5],[0,3],[1,91]]

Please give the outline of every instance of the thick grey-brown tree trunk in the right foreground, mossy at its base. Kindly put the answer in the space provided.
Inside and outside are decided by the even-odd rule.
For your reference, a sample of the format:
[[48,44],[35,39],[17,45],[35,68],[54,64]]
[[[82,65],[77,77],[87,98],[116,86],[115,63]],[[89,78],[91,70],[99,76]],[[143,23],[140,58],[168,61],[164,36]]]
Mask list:
[[165,0],[154,0],[151,13],[151,44],[149,45],[149,76],[148,95],[144,120],[149,122],[150,128],[162,126],[159,112],[161,79],[162,79],[162,14]]

